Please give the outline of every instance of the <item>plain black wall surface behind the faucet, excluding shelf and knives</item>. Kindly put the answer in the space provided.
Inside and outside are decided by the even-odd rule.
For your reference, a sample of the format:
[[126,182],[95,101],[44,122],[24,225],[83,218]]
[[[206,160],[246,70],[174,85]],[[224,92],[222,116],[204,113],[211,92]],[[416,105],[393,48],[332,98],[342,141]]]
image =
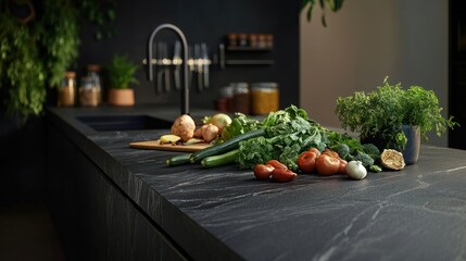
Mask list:
[[[211,88],[191,91],[191,105],[213,108],[218,88],[231,82],[278,82],[281,107],[299,102],[299,3],[290,1],[121,1],[117,7],[116,35],[102,41],[93,40],[92,30],[85,30],[78,67],[88,63],[105,64],[114,53],[125,53],[141,62],[147,55],[150,34],[163,23],[177,25],[188,44],[206,42],[211,59],[218,55],[218,44],[228,33],[269,33],[275,36],[270,52],[251,53],[251,58],[274,60],[273,65],[211,66]],[[155,40],[169,46],[177,38],[172,32],[161,32]],[[239,55],[239,54],[238,54]],[[135,86],[137,103],[179,104],[179,94],[155,95],[154,83],[147,80],[146,70],[139,70],[140,84]]]

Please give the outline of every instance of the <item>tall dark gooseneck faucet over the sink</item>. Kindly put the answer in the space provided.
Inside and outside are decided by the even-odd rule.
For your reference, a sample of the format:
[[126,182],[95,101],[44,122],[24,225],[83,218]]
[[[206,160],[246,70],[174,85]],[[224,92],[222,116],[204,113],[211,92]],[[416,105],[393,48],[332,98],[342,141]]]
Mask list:
[[163,30],[163,29],[171,29],[175,32],[179,39],[181,40],[181,48],[182,48],[182,74],[184,74],[184,86],[181,88],[181,114],[189,114],[189,84],[188,84],[188,41],[186,40],[185,34],[182,34],[181,29],[179,29],[177,26],[173,24],[162,24],[158,26],[151,34],[151,37],[149,38],[149,50],[148,50],[148,70],[149,70],[149,80],[153,80],[153,65],[152,65],[152,46],[153,46],[153,39],[155,35]]

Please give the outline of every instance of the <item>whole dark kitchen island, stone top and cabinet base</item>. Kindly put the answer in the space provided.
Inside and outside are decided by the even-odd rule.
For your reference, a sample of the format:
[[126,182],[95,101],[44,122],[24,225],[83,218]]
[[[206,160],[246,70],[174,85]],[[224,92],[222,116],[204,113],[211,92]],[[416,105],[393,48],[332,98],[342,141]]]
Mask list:
[[280,184],[235,165],[166,166],[178,152],[128,144],[167,129],[96,132],[76,120],[99,113],[114,110],[48,110],[49,202],[67,257],[466,259],[466,151],[423,146],[418,163],[399,172],[363,181],[300,174]]

